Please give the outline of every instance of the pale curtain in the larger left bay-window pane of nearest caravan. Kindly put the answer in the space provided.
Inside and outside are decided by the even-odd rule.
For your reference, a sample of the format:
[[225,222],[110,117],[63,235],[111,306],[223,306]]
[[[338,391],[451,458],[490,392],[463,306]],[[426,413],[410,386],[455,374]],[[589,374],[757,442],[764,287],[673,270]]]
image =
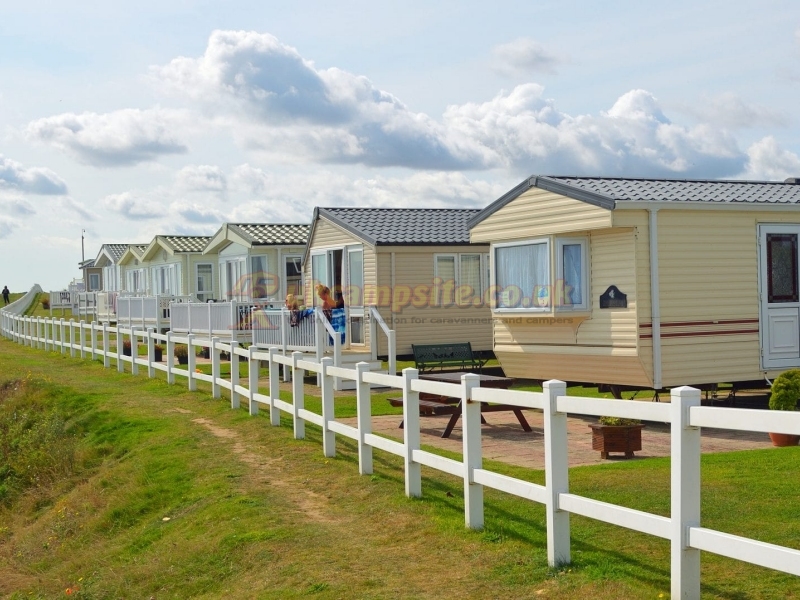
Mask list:
[[550,304],[547,243],[495,249],[497,307],[546,307]]

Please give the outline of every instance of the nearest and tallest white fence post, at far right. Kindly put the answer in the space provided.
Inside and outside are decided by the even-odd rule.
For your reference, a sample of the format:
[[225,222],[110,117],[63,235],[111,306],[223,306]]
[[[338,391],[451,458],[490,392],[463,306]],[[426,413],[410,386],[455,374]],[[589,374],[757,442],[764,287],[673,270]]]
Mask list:
[[689,425],[689,407],[700,406],[700,390],[671,391],[671,596],[700,597],[700,550],[689,547],[689,528],[700,526],[700,428]]

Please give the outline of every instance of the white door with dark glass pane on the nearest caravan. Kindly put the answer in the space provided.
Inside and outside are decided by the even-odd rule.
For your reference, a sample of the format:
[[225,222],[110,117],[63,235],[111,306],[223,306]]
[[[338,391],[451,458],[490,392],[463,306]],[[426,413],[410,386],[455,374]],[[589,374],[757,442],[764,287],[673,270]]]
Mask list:
[[759,226],[761,368],[800,367],[800,225]]

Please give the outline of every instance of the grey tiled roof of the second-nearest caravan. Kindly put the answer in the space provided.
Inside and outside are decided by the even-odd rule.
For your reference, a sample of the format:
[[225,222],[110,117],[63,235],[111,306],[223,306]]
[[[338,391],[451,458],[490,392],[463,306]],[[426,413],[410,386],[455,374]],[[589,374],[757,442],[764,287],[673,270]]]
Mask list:
[[316,208],[340,227],[373,245],[469,244],[474,208]]

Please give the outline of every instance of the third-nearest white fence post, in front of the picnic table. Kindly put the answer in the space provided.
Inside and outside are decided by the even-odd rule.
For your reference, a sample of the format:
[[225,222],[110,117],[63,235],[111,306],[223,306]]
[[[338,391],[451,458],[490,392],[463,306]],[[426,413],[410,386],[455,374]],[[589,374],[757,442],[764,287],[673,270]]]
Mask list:
[[464,523],[470,529],[483,529],[483,486],[475,483],[475,469],[483,468],[481,450],[481,403],[472,401],[472,388],[480,376],[461,376],[461,427],[464,455]]

